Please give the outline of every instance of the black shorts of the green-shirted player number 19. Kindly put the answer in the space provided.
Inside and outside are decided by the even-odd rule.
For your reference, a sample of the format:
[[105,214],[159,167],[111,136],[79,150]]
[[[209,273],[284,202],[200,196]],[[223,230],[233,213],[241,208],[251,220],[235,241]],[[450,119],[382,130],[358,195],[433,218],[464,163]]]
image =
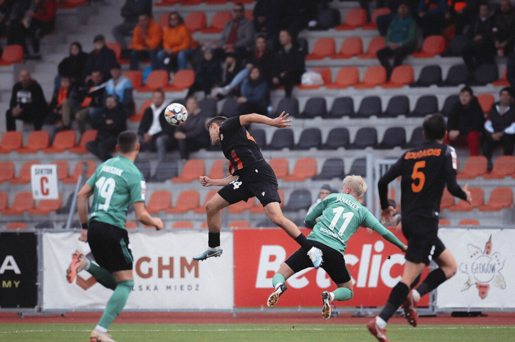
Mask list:
[[132,252],[127,230],[112,224],[91,221],[88,243],[95,261],[109,272],[132,269]]

